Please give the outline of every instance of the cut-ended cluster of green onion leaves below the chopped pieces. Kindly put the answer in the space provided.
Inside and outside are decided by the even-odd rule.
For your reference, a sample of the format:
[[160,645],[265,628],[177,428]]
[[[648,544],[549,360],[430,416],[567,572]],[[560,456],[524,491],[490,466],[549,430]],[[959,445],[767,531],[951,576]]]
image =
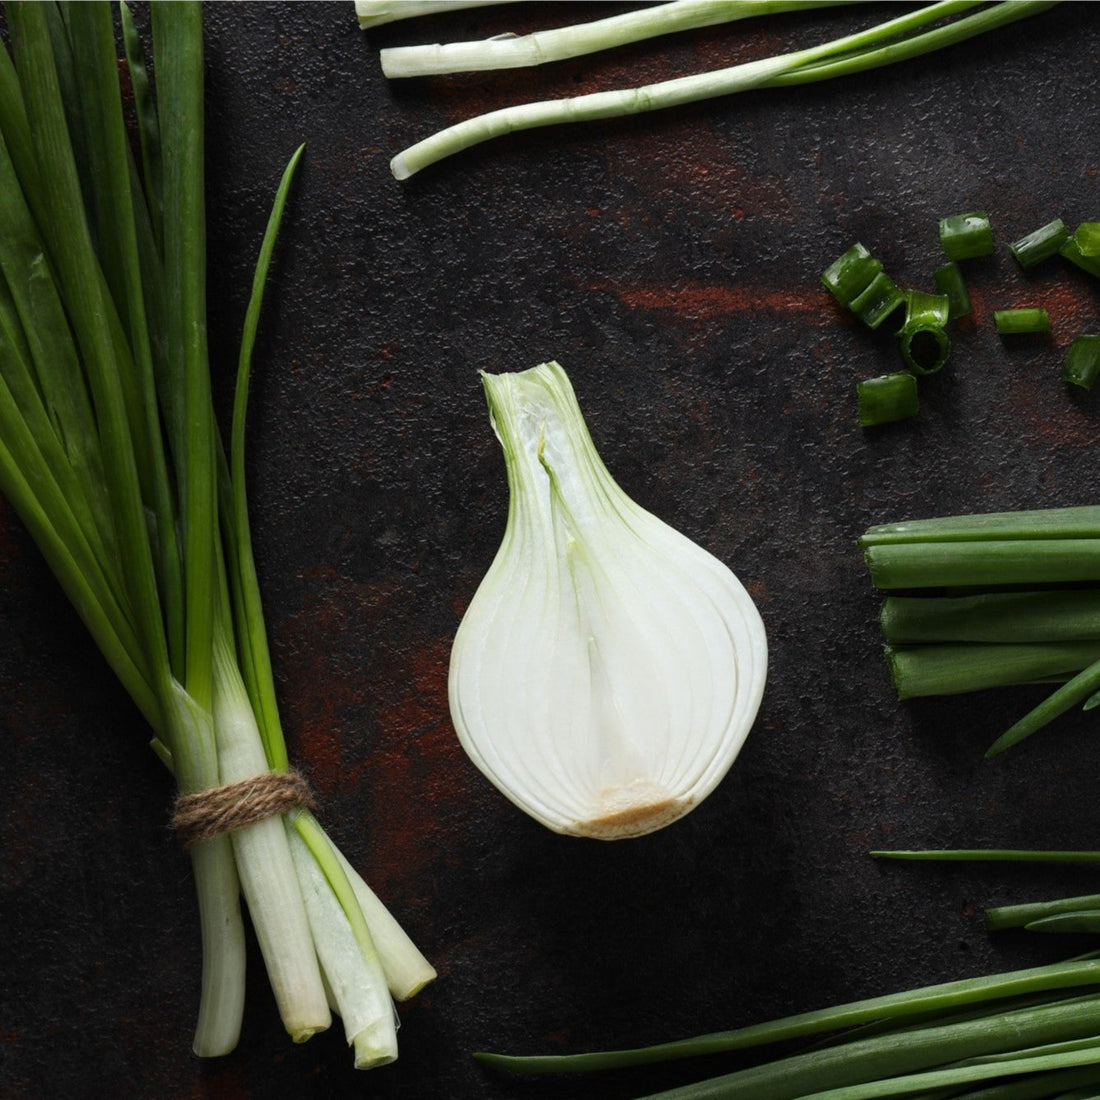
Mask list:
[[1100,507],[884,524],[860,543],[891,592],[881,626],[901,698],[1064,681],[990,756],[1100,703]]

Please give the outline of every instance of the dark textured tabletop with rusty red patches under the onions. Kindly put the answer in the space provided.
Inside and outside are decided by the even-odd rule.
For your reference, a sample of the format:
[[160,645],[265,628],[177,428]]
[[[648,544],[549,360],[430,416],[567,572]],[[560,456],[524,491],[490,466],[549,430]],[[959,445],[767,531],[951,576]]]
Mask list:
[[[1097,284],[1058,264],[1025,278],[1004,250],[1057,215],[1100,217],[1098,9],[858,80],[519,135],[394,183],[394,152],[476,110],[717,67],[890,9],[534,75],[380,75],[382,45],[578,11],[364,35],[351,3],[208,10],[222,383],[270,197],[308,142],[255,377],[254,531],[292,751],[440,971],[403,1009],[400,1060],[364,1076],[336,1032],[293,1046],[255,952],[239,1050],[189,1054],[198,943],[167,778],[0,504],[0,1096],[625,1100],[692,1072],[525,1084],[470,1052],[659,1041],[1080,949],[992,939],[980,911],[1092,891],[1087,869],[867,857],[1096,848],[1100,747],[1069,717],[982,763],[1027,692],[899,705],[855,539],[1100,495],[1100,398],[1057,377],[1071,336],[1096,330]],[[818,273],[859,239],[927,282],[937,219],[966,209],[1000,242],[969,270],[974,320],[921,417],[864,433],[854,385],[891,369],[892,346]],[[991,310],[1030,304],[1053,338],[999,340]],[[671,828],[610,845],[518,814],[447,715],[450,640],[506,508],[476,372],[551,356],[624,487],[732,565],[772,647],[728,779]]]

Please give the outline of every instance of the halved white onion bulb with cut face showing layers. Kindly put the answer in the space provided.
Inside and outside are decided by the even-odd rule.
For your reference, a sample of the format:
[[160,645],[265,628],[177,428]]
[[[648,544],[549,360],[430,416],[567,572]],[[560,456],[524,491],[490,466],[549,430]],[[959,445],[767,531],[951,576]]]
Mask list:
[[763,693],[763,624],[722,562],[616,484],[561,366],[482,378],[510,495],[451,652],[459,740],[554,832],[651,833],[737,757]]

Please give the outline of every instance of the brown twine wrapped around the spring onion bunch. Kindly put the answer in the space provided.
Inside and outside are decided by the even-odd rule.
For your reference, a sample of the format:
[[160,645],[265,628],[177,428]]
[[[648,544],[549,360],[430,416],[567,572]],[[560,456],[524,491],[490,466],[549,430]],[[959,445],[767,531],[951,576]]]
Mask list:
[[176,799],[172,828],[185,848],[230,829],[255,825],[288,810],[312,810],[309,784],[296,771],[265,771]]

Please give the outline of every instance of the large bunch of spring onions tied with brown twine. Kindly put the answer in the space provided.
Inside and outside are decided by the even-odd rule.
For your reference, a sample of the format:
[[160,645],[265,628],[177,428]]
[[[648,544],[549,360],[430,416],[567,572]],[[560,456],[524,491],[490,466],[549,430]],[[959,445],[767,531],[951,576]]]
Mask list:
[[336,1011],[358,1066],[392,1062],[392,998],[433,971],[288,767],[245,504],[251,351],[298,155],[261,249],[227,450],[206,346],[200,6],[152,6],[155,101],[121,9],[140,152],[111,7],[16,2],[4,16],[0,488],[182,794],[202,928],[195,1050],[238,1040],[243,893],[292,1037]]

